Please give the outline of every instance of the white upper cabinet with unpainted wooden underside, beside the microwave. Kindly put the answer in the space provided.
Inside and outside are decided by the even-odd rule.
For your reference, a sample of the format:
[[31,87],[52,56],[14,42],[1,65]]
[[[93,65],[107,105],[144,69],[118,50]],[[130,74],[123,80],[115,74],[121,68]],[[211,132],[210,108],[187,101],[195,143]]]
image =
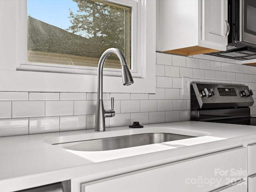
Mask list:
[[226,50],[227,0],[157,2],[157,51],[194,55]]

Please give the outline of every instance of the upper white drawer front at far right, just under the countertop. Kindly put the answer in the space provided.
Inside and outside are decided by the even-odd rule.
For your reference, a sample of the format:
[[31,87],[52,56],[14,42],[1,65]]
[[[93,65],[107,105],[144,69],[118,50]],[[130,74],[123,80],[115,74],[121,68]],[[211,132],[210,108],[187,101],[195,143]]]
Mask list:
[[256,144],[247,146],[248,152],[248,175],[256,174]]

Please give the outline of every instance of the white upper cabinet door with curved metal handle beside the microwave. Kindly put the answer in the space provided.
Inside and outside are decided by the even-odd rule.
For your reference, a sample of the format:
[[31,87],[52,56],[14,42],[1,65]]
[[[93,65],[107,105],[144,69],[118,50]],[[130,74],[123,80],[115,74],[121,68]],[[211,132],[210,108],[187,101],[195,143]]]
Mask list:
[[202,0],[202,41],[228,45],[228,0]]

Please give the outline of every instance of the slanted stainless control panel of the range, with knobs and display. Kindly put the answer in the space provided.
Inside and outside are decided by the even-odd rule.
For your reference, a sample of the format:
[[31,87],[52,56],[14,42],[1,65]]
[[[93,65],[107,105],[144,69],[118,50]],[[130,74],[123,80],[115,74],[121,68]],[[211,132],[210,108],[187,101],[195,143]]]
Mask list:
[[252,106],[253,92],[248,86],[191,84],[191,100],[197,100],[199,108]]

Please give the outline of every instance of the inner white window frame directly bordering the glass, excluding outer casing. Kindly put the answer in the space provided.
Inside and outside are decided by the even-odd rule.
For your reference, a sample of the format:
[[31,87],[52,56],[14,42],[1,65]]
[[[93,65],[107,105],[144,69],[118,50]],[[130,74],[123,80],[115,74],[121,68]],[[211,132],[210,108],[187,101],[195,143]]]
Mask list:
[[[131,7],[131,66],[132,69],[130,72],[134,77],[141,77],[140,70],[137,67],[137,2],[133,0],[105,0],[106,2],[112,2],[124,6]],[[46,64],[46,63],[32,63],[27,61],[27,1],[20,2],[20,25],[22,27],[20,34],[21,38],[21,46],[22,54],[20,55],[21,60],[20,64],[18,64],[18,70],[26,70],[26,71],[43,71],[43,72],[60,72],[60,73],[75,73],[75,74],[88,74],[88,75],[96,75],[97,67],[87,67],[87,66],[69,66],[69,65],[60,65],[60,64]],[[120,69],[114,68],[104,68],[109,76],[120,76]]]

